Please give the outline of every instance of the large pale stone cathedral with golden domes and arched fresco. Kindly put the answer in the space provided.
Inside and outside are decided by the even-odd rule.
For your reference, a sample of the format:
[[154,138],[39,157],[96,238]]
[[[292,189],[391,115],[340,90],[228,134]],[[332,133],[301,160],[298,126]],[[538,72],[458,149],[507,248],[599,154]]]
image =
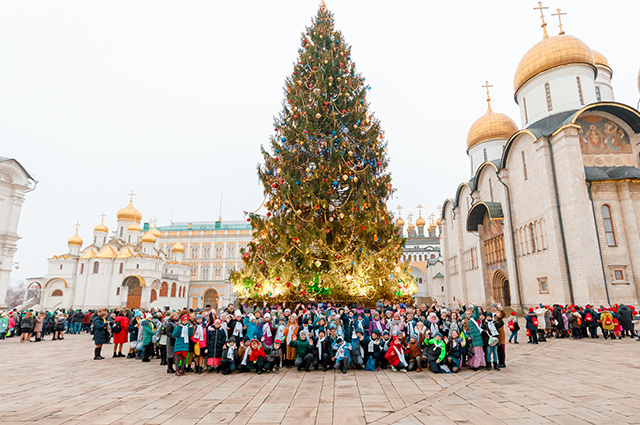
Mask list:
[[636,304],[640,114],[615,102],[602,54],[542,28],[515,72],[521,126],[487,92],[471,179],[442,206],[447,301]]

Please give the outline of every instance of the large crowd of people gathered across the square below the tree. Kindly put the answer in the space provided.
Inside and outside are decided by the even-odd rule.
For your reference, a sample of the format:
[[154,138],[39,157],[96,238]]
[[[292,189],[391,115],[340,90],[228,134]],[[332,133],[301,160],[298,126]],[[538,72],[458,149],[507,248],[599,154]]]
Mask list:
[[[333,304],[242,307],[229,304],[221,312],[59,310],[10,311],[0,315],[0,338],[21,342],[46,335],[88,332],[95,342],[94,359],[102,360],[104,344],[113,344],[114,358],[150,362],[154,357],[167,373],[279,373],[349,368],[376,371],[456,373],[506,367],[506,344],[518,344],[521,324],[528,342],[547,338],[615,340],[638,336],[640,314],[633,306],[595,308],[590,305],[539,305],[519,320],[500,304],[485,309],[467,304],[452,308],[434,302],[409,308],[378,302],[375,308]],[[634,332],[634,326],[636,331]],[[507,335],[509,338],[507,339]]]

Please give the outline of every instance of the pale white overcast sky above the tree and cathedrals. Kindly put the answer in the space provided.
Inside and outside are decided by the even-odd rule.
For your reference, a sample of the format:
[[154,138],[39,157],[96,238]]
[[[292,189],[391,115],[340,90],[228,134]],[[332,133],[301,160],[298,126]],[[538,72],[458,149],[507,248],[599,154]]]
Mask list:
[[[546,2],[602,52],[635,106],[637,0]],[[513,74],[542,33],[534,1],[327,0],[371,85],[403,216],[436,211],[469,179],[467,131],[492,106],[518,124]],[[284,78],[319,1],[13,1],[0,6],[0,156],[39,181],[14,279],[41,276],[80,221],[91,240],[132,189],[143,220],[242,220]]]

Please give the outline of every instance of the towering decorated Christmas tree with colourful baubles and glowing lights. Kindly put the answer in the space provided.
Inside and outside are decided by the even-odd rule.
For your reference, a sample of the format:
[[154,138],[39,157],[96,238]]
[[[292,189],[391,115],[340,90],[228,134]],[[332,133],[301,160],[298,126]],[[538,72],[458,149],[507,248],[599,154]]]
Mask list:
[[267,212],[248,213],[253,239],[244,268],[231,275],[241,300],[371,302],[415,293],[386,205],[393,192],[384,133],[350,52],[323,4],[302,34],[271,149],[262,149]]

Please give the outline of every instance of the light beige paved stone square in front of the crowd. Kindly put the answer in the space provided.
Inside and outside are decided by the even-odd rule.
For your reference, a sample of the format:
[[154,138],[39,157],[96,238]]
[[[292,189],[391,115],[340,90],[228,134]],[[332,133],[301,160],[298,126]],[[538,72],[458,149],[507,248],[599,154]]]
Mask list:
[[[521,332],[523,334],[523,332]],[[50,337],[47,337],[50,339]],[[3,424],[640,423],[640,343],[508,345],[499,372],[168,375],[90,337],[0,341]],[[634,389],[634,386],[636,388]]]

